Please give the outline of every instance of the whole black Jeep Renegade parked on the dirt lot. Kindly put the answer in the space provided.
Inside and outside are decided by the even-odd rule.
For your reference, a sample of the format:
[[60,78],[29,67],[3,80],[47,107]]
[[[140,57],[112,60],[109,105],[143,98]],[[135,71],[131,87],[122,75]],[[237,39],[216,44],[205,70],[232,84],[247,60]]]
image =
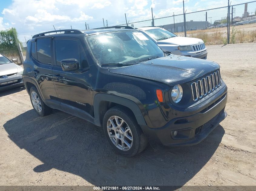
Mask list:
[[132,27],[37,34],[23,81],[38,115],[54,108],[103,126],[125,156],[148,141],[197,144],[227,116],[217,63],[167,55]]

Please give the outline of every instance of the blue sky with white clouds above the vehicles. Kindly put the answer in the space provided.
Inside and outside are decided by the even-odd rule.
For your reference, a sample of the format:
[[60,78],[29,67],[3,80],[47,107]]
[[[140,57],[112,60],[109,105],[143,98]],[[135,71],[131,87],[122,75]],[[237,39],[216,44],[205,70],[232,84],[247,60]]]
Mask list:
[[[233,0],[232,5],[252,0]],[[227,6],[227,0],[185,0],[186,13],[209,8]],[[102,18],[108,25],[125,24],[125,13],[129,23],[151,19],[151,7],[155,24],[171,24],[164,16],[181,14],[182,0],[0,0],[0,30],[15,27],[19,39],[23,42],[31,35],[56,29],[85,29],[85,22],[90,28],[103,27]],[[248,12],[254,12],[256,3],[248,4]],[[236,16],[242,16],[244,5],[236,7]],[[225,8],[208,11],[208,21],[218,20],[227,15]],[[182,22],[183,16],[175,17],[175,22]],[[205,12],[187,14],[186,20],[205,21]],[[151,21],[135,24],[135,27],[150,25]]]

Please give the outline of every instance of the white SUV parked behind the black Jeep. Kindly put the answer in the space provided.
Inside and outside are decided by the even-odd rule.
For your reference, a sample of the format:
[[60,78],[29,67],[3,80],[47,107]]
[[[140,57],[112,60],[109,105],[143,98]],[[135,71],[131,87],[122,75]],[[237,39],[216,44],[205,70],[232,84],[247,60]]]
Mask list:
[[194,58],[207,58],[204,41],[198,38],[178,37],[160,27],[139,27],[141,32],[151,37],[165,52]]

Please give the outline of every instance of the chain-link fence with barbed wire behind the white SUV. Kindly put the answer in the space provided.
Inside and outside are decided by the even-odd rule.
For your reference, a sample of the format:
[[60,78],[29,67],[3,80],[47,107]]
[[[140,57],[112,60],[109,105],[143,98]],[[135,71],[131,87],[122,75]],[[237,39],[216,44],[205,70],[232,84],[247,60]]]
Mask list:
[[[223,5],[223,4],[222,4]],[[165,28],[178,36],[194,37],[204,40],[206,45],[227,43],[248,43],[256,40],[256,1],[230,4],[219,8],[204,8],[200,11],[188,12],[183,3],[183,12],[170,12],[165,15],[155,15],[143,20],[127,21],[118,26],[131,27],[157,26]],[[180,9],[181,10],[181,9]],[[185,22],[184,22],[185,21]],[[108,24],[114,26],[116,24]]]

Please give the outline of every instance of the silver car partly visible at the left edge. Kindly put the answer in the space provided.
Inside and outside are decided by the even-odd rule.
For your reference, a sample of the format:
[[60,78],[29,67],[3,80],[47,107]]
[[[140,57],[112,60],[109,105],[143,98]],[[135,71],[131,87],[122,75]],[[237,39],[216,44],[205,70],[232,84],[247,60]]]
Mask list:
[[0,54],[0,91],[24,86],[22,80],[23,68],[14,62],[17,62],[17,59],[11,61]]

